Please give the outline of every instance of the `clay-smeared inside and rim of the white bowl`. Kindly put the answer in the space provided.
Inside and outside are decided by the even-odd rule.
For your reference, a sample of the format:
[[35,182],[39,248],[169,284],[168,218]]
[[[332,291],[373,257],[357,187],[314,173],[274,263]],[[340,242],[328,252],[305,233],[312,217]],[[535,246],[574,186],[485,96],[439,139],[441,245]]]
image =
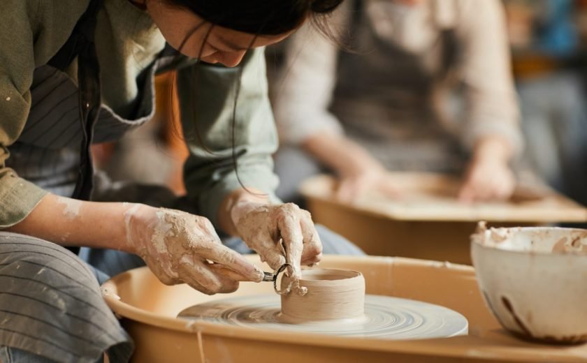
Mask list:
[[471,240],[506,251],[587,255],[587,230],[579,228],[487,228],[479,222]]

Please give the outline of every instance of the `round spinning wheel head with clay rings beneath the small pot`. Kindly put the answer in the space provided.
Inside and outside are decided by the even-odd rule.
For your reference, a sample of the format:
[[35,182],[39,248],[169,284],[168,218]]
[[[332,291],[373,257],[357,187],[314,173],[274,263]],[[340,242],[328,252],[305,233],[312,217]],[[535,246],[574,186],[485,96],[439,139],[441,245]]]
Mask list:
[[283,323],[280,309],[277,295],[251,295],[194,305],[178,317],[258,329],[377,339],[432,339],[468,333],[467,319],[460,313],[398,297],[365,295],[365,316],[348,320]]

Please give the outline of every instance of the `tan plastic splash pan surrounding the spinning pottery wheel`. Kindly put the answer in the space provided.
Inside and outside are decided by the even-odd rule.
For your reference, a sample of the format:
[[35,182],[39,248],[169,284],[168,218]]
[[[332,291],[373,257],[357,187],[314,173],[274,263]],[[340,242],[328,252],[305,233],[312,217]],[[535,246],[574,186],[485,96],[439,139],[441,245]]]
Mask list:
[[[249,257],[260,264],[256,256]],[[269,268],[264,266],[268,271]],[[462,314],[468,335],[433,339],[329,336],[176,318],[220,299],[271,295],[270,283],[242,283],[231,295],[164,286],[143,267],[103,285],[103,295],[136,343],[134,362],[586,362],[587,346],[516,339],[484,306],[472,267],[406,258],[325,256],[320,267],[365,276],[368,295],[427,302]]]

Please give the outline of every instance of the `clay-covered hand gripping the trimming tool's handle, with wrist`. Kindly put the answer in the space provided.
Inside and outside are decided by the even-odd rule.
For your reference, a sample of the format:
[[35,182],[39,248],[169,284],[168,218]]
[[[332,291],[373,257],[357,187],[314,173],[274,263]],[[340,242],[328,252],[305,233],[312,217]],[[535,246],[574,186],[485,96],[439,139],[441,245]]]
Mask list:
[[129,205],[126,244],[166,285],[187,283],[211,295],[233,292],[238,281],[263,279],[263,272],[224,246],[203,216],[174,209]]

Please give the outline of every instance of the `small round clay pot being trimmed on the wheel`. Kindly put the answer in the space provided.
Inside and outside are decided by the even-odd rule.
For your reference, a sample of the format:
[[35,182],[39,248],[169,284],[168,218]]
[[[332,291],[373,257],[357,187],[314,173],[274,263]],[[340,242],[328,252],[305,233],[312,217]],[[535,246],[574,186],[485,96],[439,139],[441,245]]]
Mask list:
[[[281,288],[289,286],[284,276]],[[307,288],[300,295],[293,288],[282,295],[280,320],[288,323],[359,318],[365,312],[365,279],[361,272],[349,269],[305,269],[300,286]]]

